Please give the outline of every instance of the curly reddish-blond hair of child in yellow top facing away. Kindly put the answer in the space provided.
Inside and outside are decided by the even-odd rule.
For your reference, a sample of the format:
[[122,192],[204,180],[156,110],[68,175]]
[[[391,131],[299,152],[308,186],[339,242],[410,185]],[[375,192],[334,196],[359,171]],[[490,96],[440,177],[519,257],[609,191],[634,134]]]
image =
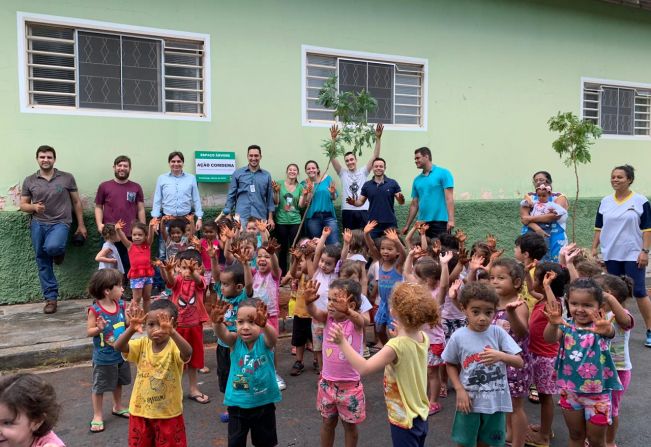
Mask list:
[[398,283],[391,292],[391,310],[410,329],[441,321],[438,304],[427,287],[420,284]]

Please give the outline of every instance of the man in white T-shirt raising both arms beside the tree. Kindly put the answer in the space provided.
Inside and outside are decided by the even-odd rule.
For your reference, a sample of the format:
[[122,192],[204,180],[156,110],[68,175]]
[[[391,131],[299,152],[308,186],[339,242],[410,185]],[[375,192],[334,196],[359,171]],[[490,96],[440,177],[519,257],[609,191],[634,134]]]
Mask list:
[[[357,168],[357,157],[352,152],[346,152],[344,154],[344,162],[346,163],[346,169],[343,169],[341,164],[336,158],[332,158],[330,162],[335,168],[335,171],[341,179],[341,189],[343,197],[350,197],[353,199],[352,203],[355,203],[359,198],[361,193],[362,186],[368,178],[368,174],[373,167],[373,160],[380,156],[380,147],[382,146],[382,131],[384,126],[378,124],[375,127],[375,149],[371,158],[366,162],[361,168]],[[339,133],[339,129],[336,126],[330,128],[330,136],[332,139],[336,139]],[[350,230],[356,230],[358,228],[363,228],[368,222],[368,207],[369,204],[361,202],[361,206],[355,206],[348,201],[344,201],[341,204],[341,224],[344,228]]]

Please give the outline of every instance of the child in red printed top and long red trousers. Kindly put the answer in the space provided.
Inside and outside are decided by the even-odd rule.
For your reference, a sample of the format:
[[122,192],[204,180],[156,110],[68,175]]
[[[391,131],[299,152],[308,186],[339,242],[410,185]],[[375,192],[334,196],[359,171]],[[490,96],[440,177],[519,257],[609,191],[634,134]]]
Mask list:
[[[203,278],[201,255],[197,250],[182,251],[178,257],[168,258],[162,266],[161,276],[172,290],[172,302],[178,308],[177,332],[192,347],[192,357],[186,364],[190,394],[188,398],[207,404],[210,398],[199,390],[197,371],[203,368],[203,323],[208,314],[203,306],[206,283]],[[178,273],[175,270],[178,269]]]

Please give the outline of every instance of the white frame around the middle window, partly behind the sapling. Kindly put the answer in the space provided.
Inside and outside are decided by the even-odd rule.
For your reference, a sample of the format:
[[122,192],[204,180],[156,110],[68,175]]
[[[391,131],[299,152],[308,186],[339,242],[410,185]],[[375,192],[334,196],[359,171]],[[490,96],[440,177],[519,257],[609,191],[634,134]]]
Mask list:
[[318,47],[313,45],[301,45],[301,124],[304,127],[330,127],[332,122],[310,121],[307,119],[307,54],[319,53],[343,59],[358,59],[364,62],[378,63],[405,63],[423,66],[423,91],[422,100],[422,126],[407,126],[401,124],[385,124],[384,128],[389,130],[400,130],[405,132],[426,132],[427,131],[427,85],[428,85],[428,61],[423,58],[396,56],[392,54],[368,53],[364,51],[340,50],[336,48]]

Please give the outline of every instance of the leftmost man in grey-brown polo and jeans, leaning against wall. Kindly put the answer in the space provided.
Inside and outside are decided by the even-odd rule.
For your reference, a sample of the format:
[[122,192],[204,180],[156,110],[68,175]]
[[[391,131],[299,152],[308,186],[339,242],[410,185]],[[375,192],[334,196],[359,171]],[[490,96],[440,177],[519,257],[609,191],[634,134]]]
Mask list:
[[51,146],[36,149],[39,170],[25,179],[20,193],[20,210],[31,214],[32,245],[46,314],[57,311],[59,284],[53,264],[63,262],[73,210],[77,218],[75,234],[84,239],[88,236],[75,178],[54,168],[56,157]]

